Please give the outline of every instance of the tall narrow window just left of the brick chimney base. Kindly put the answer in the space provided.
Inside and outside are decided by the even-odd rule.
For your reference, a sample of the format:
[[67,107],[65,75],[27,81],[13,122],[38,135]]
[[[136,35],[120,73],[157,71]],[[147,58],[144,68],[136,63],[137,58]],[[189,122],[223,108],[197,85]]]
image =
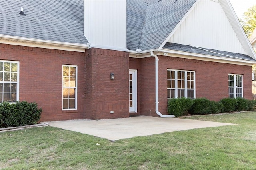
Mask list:
[[77,66],[62,65],[62,109],[77,108]]

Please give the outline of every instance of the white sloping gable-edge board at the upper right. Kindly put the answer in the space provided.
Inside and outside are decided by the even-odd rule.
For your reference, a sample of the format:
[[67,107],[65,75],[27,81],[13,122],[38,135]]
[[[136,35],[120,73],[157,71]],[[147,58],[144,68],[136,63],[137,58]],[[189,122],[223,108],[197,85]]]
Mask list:
[[236,16],[236,12],[234,11],[230,1],[229,0],[219,0],[219,2],[228,18],[230,24],[232,25],[234,31],[236,32],[236,36],[238,37],[240,43],[242,44],[244,51],[251,58],[256,59],[256,53],[255,53],[254,49],[252,48],[252,45],[251,45],[248,37],[246,36],[244,29],[242,28],[242,25],[240,24],[240,22]]

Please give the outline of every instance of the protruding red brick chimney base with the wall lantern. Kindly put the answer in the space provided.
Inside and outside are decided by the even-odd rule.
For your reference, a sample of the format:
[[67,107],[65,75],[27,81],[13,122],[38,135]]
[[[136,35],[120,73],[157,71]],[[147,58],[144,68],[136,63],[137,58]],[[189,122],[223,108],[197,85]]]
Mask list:
[[91,48],[86,50],[85,63],[85,118],[129,117],[129,53]]

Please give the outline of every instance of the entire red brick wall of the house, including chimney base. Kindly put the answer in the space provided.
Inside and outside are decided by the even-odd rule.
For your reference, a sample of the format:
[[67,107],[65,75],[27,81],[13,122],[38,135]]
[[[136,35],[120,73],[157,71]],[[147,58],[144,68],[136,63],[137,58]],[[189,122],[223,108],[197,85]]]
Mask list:
[[[20,101],[42,107],[40,121],[129,116],[129,69],[137,69],[138,113],[155,113],[155,58],[91,48],[85,53],[1,44],[2,60],[20,61]],[[228,73],[242,74],[244,98],[252,99],[251,67],[159,57],[159,111],[167,114],[167,69],[196,71],[196,97],[228,97]],[[78,65],[78,109],[62,111],[62,64]],[[115,80],[110,80],[110,73]],[[111,114],[110,111],[114,111]],[[135,113],[134,113],[135,114]],[[133,115],[131,113],[131,115]]]

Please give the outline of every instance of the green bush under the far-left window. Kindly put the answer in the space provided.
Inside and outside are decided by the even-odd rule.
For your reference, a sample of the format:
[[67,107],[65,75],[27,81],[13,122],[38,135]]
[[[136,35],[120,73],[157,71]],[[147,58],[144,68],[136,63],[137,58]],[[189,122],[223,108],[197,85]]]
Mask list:
[[10,104],[3,102],[0,104],[0,127],[16,127],[36,124],[42,113],[37,104],[26,101]]

